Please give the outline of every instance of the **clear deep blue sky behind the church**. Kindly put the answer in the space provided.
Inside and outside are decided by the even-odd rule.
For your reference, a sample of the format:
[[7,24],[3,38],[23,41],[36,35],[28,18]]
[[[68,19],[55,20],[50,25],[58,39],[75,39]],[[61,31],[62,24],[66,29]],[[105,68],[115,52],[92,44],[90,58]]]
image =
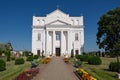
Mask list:
[[57,9],[70,16],[84,16],[85,51],[98,50],[97,22],[101,15],[120,7],[120,0],[0,0],[0,43],[11,42],[15,50],[31,50],[32,16]]

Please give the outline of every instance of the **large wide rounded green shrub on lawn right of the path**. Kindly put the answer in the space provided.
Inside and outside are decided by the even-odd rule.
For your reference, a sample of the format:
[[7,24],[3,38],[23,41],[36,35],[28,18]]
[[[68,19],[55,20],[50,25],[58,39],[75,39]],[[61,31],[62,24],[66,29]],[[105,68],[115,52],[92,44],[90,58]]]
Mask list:
[[88,59],[88,64],[100,65],[102,63],[100,57],[92,56]]

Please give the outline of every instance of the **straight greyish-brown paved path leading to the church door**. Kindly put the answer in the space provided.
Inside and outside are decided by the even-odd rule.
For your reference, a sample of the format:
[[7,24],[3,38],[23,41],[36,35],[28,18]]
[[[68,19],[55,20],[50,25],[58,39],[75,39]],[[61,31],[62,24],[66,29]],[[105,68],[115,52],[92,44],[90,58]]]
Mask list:
[[73,67],[64,63],[61,57],[53,57],[51,62],[34,80],[79,80],[73,73]]

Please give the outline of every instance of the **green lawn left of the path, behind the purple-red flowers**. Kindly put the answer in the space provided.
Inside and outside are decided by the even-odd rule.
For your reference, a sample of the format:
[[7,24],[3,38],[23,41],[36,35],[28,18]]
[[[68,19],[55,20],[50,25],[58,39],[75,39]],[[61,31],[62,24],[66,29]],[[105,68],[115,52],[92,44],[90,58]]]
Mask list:
[[29,68],[30,62],[22,65],[14,65],[14,61],[7,62],[7,70],[0,72],[0,80],[13,80],[19,73]]

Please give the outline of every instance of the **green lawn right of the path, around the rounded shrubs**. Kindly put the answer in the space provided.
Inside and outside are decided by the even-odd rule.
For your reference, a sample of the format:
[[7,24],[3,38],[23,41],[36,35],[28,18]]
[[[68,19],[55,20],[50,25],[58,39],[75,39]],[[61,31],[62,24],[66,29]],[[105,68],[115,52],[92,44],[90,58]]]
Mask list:
[[116,61],[116,58],[101,58],[102,65],[89,65],[83,62],[82,67],[92,76],[97,78],[97,80],[118,80],[116,72],[111,72],[108,70],[109,63],[111,61]]

